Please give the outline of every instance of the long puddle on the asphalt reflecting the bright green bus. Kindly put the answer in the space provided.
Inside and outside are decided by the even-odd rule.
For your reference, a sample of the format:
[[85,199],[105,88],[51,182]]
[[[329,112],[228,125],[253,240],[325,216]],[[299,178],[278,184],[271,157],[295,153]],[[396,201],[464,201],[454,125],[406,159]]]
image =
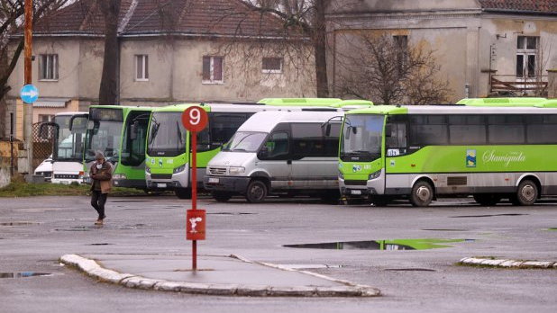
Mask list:
[[451,247],[449,243],[473,242],[474,239],[389,239],[389,240],[365,240],[365,241],[342,241],[321,244],[284,245],[294,248],[308,249],[333,249],[333,250],[428,250],[435,248]]

